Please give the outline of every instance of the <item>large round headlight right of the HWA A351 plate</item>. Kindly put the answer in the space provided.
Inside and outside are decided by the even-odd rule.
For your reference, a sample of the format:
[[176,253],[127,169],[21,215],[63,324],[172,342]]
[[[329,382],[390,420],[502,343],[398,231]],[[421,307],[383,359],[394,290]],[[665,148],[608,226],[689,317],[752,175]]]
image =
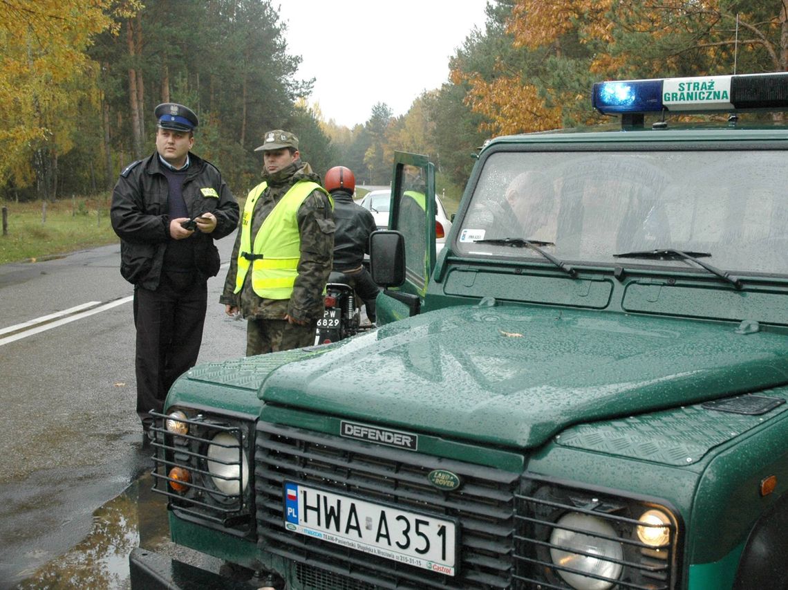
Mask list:
[[[562,525],[587,531],[587,534],[559,528]],[[620,561],[624,556],[623,548],[621,543],[603,539],[601,536],[615,537],[615,530],[601,518],[578,512],[563,515],[556,523],[556,528],[553,528],[550,535],[550,543],[559,547],[566,547],[568,550],[565,551],[556,547],[550,549],[550,557],[556,566],[567,567],[578,572],[607,578],[607,580],[597,580],[580,573],[556,569],[563,581],[567,582],[572,588],[577,588],[578,590],[607,590],[615,586],[616,581],[618,581],[623,566],[610,560],[617,559]],[[589,555],[574,553],[571,551],[573,549]],[[594,557],[595,555],[599,557]]]

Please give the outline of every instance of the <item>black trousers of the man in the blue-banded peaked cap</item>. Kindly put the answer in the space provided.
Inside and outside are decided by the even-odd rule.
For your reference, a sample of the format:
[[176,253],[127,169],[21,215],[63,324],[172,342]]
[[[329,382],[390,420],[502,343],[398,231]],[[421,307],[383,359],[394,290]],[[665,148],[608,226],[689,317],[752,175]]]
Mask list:
[[151,409],[162,412],[175,380],[195,366],[207,299],[206,279],[193,274],[164,272],[158,289],[134,289],[137,415],[143,427]]

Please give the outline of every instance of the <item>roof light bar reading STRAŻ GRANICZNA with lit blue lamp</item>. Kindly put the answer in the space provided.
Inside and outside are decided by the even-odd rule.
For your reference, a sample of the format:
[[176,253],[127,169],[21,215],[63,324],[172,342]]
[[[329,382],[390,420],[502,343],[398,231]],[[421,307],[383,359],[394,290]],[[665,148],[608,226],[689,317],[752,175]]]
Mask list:
[[788,110],[788,72],[597,82],[591,103],[602,114]]

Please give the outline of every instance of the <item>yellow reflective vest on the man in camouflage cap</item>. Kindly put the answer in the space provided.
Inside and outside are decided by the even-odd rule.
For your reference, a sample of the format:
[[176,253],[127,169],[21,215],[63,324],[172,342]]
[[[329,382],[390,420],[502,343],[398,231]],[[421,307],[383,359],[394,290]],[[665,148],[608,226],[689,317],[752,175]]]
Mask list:
[[235,293],[241,290],[247,271],[251,266],[251,286],[259,297],[263,299],[290,299],[293,284],[298,276],[298,261],[301,257],[301,236],[296,213],[312,191],[319,190],[325,192],[326,195],[329,193],[316,182],[296,182],[288,192],[284,193],[279,203],[263,220],[262,226],[255,236],[255,246],[252,248],[252,211],[255,210],[255,203],[267,186],[266,182],[261,182],[251,189],[246,204],[243,206]]

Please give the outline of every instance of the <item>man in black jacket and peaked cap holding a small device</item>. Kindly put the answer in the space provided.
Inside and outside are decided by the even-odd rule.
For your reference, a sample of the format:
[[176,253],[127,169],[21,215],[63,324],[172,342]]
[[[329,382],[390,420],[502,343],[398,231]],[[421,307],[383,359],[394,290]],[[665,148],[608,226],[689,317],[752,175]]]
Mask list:
[[219,170],[191,154],[197,115],[176,103],[154,110],[156,151],[121,172],[110,215],[121,274],[134,285],[137,414],[161,412],[169,387],[197,362],[214,240],[235,230],[238,204]]

